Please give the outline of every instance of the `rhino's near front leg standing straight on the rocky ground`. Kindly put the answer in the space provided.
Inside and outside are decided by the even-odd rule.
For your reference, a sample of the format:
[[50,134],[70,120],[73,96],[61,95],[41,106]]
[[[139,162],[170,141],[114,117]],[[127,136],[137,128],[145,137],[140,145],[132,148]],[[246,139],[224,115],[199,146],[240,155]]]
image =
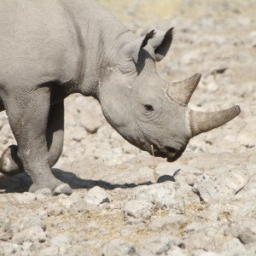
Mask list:
[[[40,86],[37,90],[26,92],[26,96],[20,95],[19,92],[13,94],[6,102],[8,106],[6,111],[18,144],[18,157],[25,172],[32,177],[32,187],[29,190],[35,192],[38,189],[48,188],[53,195],[71,194],[72,189],[69,185],[56,179],[49,167],[46,139],[50,114],[49,87]],[[54,131],[54,129],[49,130]],[[53,135],[52,141],[54,137]],[[53,143],[48,144],[50,148],[53,146]]]

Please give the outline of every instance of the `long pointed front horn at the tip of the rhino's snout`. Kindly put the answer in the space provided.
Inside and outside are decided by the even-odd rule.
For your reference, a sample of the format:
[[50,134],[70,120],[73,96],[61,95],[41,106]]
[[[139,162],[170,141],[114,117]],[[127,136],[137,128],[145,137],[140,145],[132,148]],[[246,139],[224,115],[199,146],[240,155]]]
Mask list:
[[234,119],[241,112],[239,106],[218,112],[197,112],[189,110],[191,137],[210,131]]

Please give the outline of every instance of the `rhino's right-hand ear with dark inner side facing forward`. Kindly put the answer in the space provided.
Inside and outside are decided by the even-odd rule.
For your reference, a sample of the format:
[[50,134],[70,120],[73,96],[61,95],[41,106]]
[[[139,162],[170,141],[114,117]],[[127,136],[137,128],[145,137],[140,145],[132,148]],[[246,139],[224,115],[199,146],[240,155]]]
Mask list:
[[154,48],[155,61],[161,61],[167,54],[168,49],[172,44],[173,27],[166,33],[162,33],[155,38],[148,40],[148,44],[151,44]]

